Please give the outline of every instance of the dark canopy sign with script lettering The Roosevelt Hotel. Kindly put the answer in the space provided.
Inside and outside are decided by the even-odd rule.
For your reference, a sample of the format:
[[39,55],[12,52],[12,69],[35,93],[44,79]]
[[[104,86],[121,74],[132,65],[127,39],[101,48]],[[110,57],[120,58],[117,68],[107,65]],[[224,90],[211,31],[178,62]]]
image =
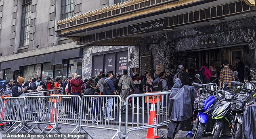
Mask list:
[[167,27],[167,18],[128,26],[128,34],[162,30]]

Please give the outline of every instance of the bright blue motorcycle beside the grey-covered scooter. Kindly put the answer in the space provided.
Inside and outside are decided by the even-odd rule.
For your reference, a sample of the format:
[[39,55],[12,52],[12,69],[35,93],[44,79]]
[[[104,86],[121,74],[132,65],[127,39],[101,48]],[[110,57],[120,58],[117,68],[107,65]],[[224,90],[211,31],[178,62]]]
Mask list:
[[[215,85],[215,86],[214,86]],[[194,139],[200,139],[205,132],[213,129],[215,120],[212,119],[214,104],[221,99],[218,96],[217,84],[193,84],[196,88],[202,88],[206,93],[201,94],[194,100],[194,113],[197,113],[193,126]]]

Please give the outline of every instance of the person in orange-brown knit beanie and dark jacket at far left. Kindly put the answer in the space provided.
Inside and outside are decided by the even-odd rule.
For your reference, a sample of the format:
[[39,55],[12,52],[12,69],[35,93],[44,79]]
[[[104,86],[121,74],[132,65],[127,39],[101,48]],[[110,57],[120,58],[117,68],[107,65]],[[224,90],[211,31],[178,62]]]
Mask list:
[[22,84],[25,82],[25,79],[22,78],[21,76],[18,76],[17,78],[17,84],[14,84],[12,92],[13,92],[13,97],[18,97],[18,96],[25,96],[26,89],[23,88]]

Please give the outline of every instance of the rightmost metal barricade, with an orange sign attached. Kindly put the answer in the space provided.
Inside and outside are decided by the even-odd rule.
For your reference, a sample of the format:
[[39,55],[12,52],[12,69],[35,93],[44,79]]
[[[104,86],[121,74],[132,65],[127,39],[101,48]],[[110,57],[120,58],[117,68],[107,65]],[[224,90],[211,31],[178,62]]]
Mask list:
[[[170,91],[153,92],[146,94],[132,94],[126,99],[126,114],[125,114],[125,133],[123,138],[128,138],[127,134],[132,131],[138,131],[149,128],[159,128],[163,137],[165,135],[161,129],[169,123],[169,95]],[[156,123],[149,125],[149,116],[151,110],[151,102],[155,102]],[[129,108],[129,106],[131,108]],[[155,119],[152,114],[152,119]],[[128,128],[128,124],[131,128]]]

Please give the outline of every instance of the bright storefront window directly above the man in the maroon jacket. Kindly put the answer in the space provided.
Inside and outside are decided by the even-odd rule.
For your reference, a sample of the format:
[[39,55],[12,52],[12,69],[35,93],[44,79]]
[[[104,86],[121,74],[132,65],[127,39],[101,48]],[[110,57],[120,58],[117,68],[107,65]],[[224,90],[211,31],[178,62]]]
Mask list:
[[82,76],[82,58],[71,59],[69,61],[69,77],[72,77],[73,72],[77,72],[78,75]]

